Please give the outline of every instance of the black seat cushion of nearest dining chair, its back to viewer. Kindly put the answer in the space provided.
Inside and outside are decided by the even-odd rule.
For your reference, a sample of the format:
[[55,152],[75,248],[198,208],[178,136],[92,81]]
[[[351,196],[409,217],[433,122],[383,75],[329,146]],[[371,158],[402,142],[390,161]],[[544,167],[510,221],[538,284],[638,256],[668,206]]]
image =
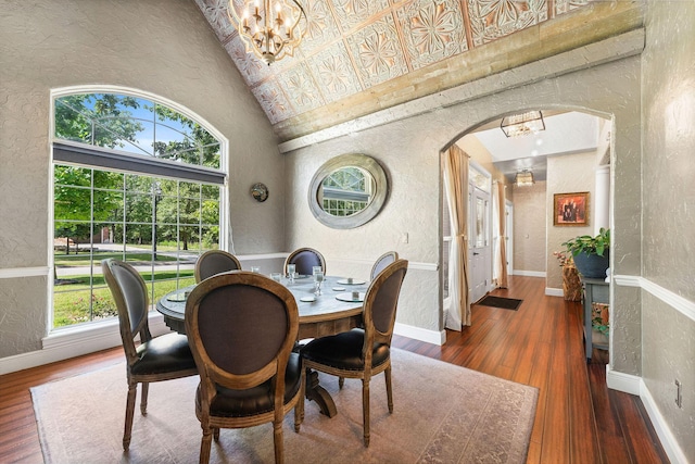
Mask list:
[[[285,404],[300,390],[302,363],[298,353],[290,353],[285,373]],[[195,393],[195,405],[200,410],[200,386]],[[271,380],[248,390],[231,390],[217,387],[217,394],[213,398],[210,413],[218,417],[243,417],[273,411],[274,399]]]

